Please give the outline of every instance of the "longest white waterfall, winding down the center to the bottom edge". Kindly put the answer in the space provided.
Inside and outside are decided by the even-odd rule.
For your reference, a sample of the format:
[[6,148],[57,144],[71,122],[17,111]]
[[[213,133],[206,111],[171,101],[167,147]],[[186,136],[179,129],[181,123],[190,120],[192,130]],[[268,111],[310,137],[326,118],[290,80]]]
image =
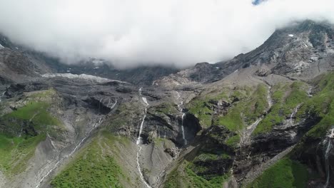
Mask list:
[[141,95],[141,90],[142,88],[139,88],[138,90],[138,93],[139,95],[141,96],[141,99],[143,100],[143,103],[145,103],[145,114],[143,116],[143,120],[141,120],[141,127],[139,128],[139,133],[138,133],[138,138],[137,138],[137,142],[136,144],[138,145],[138,151],[137,151],[137,169],[139,171],[139,174],[141,176],[141,181],[143,181],[143,183],[146,185],[146,187],[148,188],[151,188],[151,186],[148,184],[148,182],[146,182],[145,178],[143,177],[143,172],[141,172],[141,164],[139,163],[139,155],[141,153],[141,144],[142,144],[142,140],[143,138],[141,137],[141,132],[143,131],[143,124],[144,124],[144,121],[145,121],[145,118],[146,118],[146,113],[147,113],[147,107],[148,107],[148,102],[147,102],[147,99],[144,98],[142,95]]

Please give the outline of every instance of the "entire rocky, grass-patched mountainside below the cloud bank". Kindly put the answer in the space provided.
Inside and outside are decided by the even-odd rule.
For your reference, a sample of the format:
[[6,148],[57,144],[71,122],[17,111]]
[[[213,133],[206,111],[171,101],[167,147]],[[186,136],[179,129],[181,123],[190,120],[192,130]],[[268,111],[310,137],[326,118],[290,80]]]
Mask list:
[[334,187],[330,23],[182,70],[0,44],[0,187]]

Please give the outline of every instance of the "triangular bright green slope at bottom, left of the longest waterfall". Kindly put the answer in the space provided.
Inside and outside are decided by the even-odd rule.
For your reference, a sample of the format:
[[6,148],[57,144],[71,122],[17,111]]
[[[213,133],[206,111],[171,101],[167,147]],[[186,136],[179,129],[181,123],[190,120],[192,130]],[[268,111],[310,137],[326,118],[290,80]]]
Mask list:
[[[53,187],[123,187],[133,179],[126,177],[114,155],[118,155],[114,142],[127,144],[126,139],[108,132],[94,137],[74,160],[51,182]],[[115,153],[113,153],[115,152]],[[135,187],[131,184],[132,187]]]

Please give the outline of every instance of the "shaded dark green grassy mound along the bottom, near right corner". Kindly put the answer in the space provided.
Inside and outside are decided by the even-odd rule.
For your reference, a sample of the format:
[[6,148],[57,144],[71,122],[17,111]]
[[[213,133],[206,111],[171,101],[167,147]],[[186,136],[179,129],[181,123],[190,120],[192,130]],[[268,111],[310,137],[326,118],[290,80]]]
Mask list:
[[279,160],[249,184],[248,188],[307,187],[308,170],[300,162],[284,158]]

